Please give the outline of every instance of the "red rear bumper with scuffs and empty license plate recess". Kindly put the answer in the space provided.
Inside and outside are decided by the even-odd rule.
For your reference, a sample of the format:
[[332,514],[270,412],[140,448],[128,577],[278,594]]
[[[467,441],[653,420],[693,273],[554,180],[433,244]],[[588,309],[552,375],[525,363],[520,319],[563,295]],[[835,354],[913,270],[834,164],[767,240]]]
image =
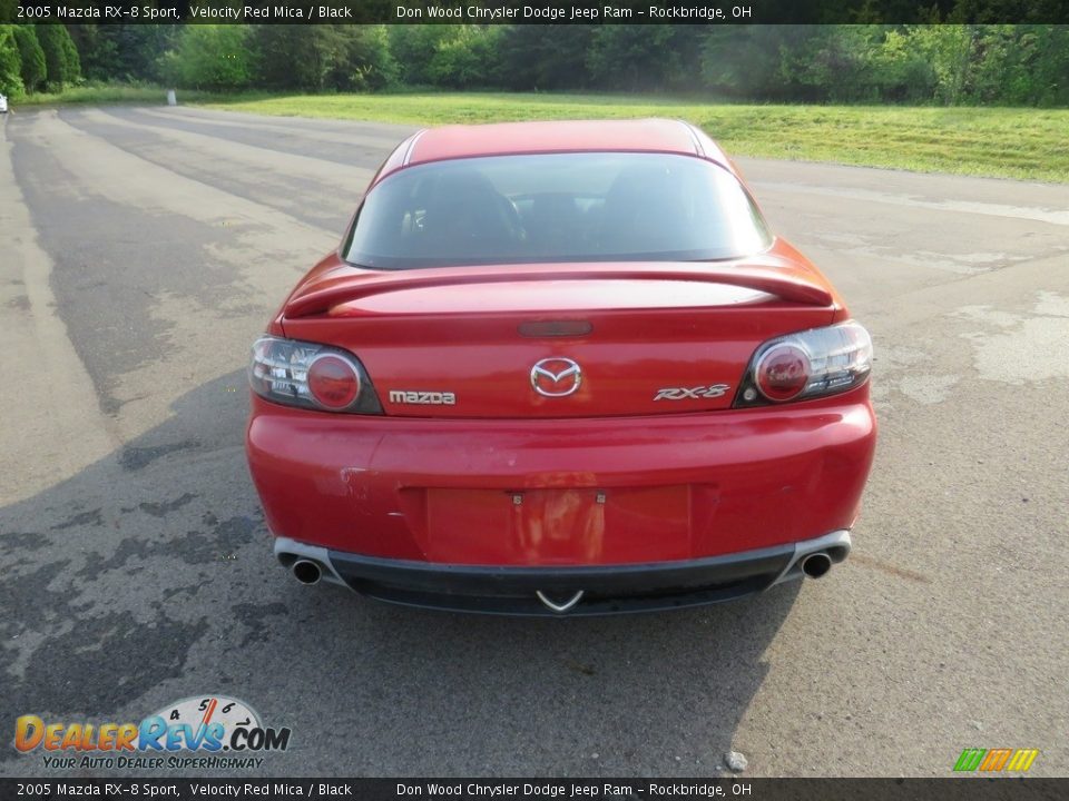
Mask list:
[[695,562],[845,531],[875,447],[867,385],[661,417],[416,419],[253,397],[269,530],[363,557],[587,568]]

